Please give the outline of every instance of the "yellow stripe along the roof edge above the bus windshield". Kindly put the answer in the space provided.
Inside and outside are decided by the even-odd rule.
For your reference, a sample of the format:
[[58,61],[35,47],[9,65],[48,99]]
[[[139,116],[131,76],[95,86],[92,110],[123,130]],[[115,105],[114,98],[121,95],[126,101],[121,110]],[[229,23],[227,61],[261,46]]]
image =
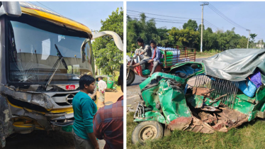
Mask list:
[[86,33],[91,34],[91,30],[88,27],[82,25],[81,23],[71,21],[67,18],[62,18],[60,16],[55,16],[51,13],[46,13],[46,12],[38,11],[35,9],[26,9],[24,7],[21,7],[21,11],[23,13],[28,13],[30,16],[35,16],[37,18],[43,18],[45,20],[50,20],[50,21],[55,21],[57,23],[62,23],[64,25],[71,26],[72,28],[76,28],[79,31],[84,31]]

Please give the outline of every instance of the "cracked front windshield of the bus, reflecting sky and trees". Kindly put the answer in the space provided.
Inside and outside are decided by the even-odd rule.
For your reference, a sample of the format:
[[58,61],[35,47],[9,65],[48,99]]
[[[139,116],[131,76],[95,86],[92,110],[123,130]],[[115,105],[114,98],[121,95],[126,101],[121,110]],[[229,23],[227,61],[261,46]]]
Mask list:
[[47,82],[59,58],[55,44],[68,70],[60,61],[52,82],[77,82],[80,75],[92,75],[94,66],[90,40],[72,36],[73,31],[66,32],[67,35],[62,35],[28,23],[8,21],[9,81]]

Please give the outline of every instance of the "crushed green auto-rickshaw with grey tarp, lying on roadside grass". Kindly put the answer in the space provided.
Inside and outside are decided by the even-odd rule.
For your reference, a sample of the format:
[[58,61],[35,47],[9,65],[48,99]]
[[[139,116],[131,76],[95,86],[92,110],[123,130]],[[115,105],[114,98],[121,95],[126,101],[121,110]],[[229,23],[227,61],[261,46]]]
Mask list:
[[[140,84],[142,101],[134,118],[148,123],[135,128],[133,143],[158,138],[161,124],[164,135],[174,130],[214,133],[264,118],[264,58],[265,50],[233,49],[202,63],[176,64],[169,74],[154,73]],[[252,89],[256,72],[261,84]]]

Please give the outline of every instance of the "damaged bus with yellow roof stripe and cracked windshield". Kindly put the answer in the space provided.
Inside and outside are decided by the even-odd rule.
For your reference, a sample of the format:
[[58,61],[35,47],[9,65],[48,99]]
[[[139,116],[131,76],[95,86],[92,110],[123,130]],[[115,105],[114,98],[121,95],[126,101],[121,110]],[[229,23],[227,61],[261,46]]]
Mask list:
[[[2,147],[12,133],[72,131],[79,77],[95,77],[91,40],[103,35],[113,36],[122,47],[111,31],[92,35],[83,24],[39,6],[0,3]],[[96,89],[89,96],[95,100]]]

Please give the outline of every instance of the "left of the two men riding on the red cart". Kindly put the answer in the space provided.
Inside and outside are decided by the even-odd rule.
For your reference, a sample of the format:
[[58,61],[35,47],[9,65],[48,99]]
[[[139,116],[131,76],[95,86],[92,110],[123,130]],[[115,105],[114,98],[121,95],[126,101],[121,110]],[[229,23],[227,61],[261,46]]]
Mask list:
[[130,66],[131,69],[139,65],[145,64],[146,62],[148,62],[148,60],[150,60],[150,57],[152,55],[150,46],[145,45],[144,40],[142,38],[137,38],[137,44],[140,45],[140,48],[139,48],[140,53],[137,53],[135,50],[135,55],[143,55],[144,59],[138,62],[137,64]]

